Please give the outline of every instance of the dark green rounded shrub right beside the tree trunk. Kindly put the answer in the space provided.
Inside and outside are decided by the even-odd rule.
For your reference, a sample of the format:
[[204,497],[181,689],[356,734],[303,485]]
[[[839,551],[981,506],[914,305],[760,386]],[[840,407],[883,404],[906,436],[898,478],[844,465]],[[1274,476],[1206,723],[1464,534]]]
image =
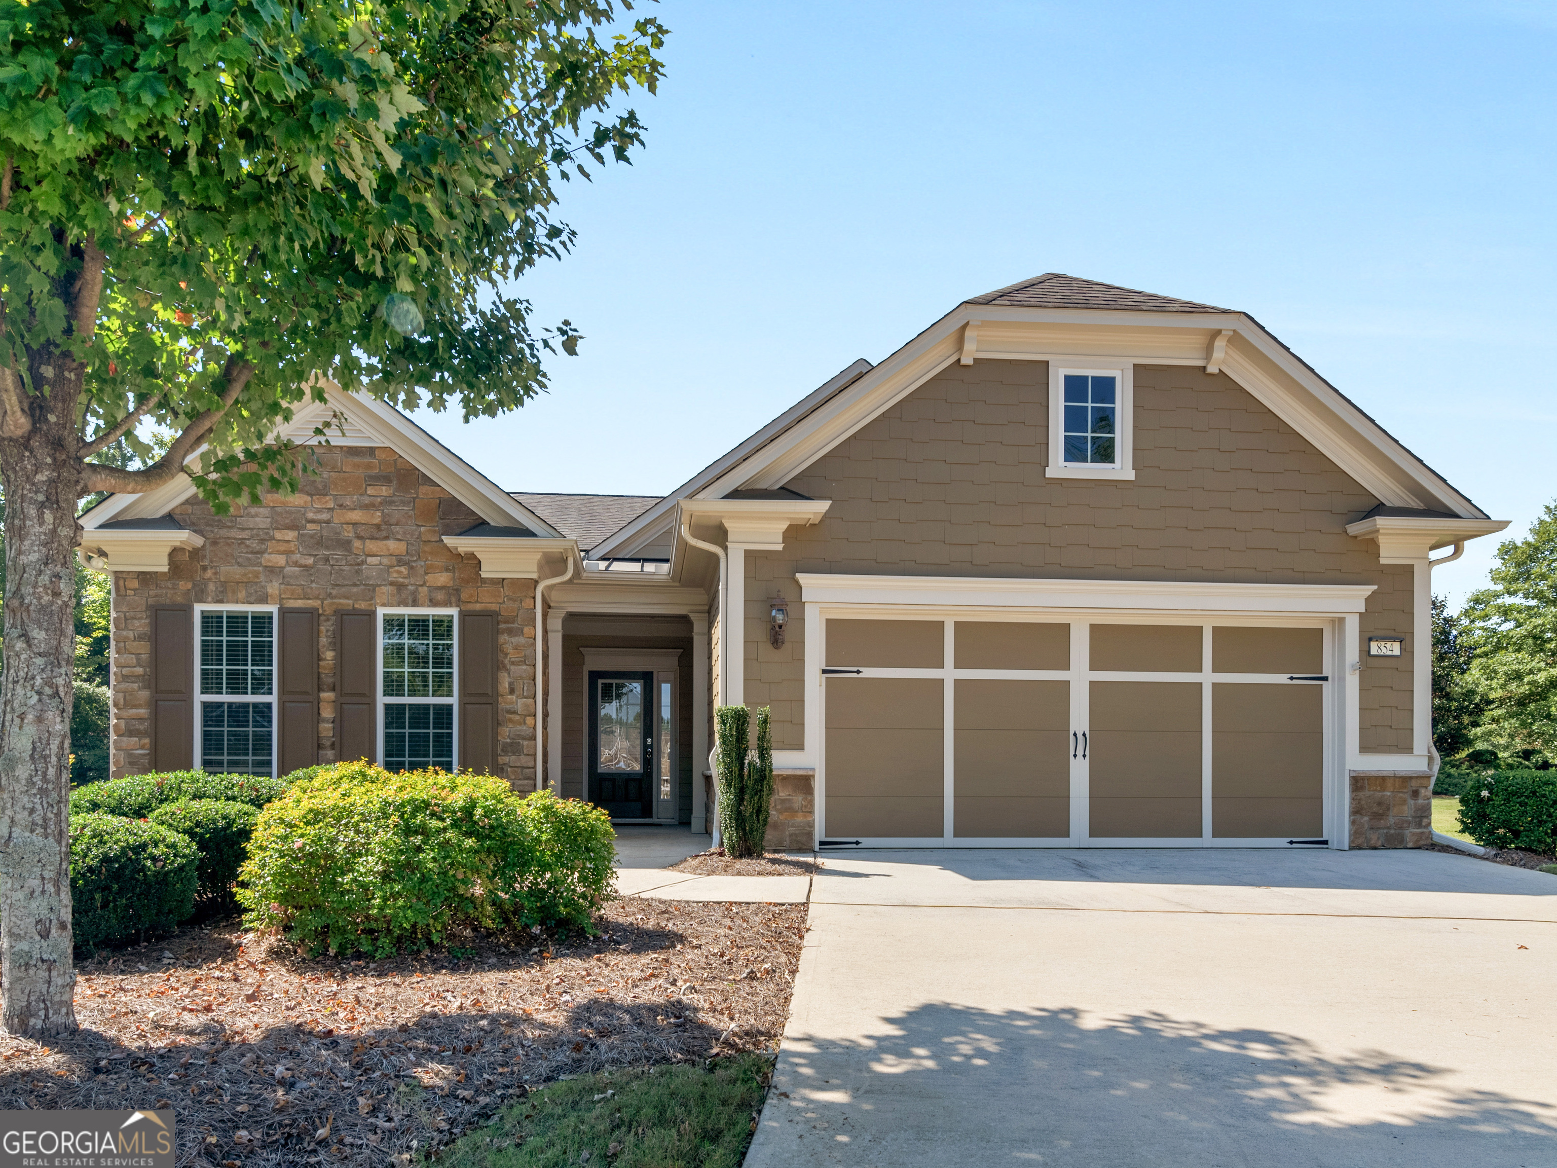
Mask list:
[[70,920],[95,948],[168,933],[195,911],[199,850],[145,819],[70,816]]

